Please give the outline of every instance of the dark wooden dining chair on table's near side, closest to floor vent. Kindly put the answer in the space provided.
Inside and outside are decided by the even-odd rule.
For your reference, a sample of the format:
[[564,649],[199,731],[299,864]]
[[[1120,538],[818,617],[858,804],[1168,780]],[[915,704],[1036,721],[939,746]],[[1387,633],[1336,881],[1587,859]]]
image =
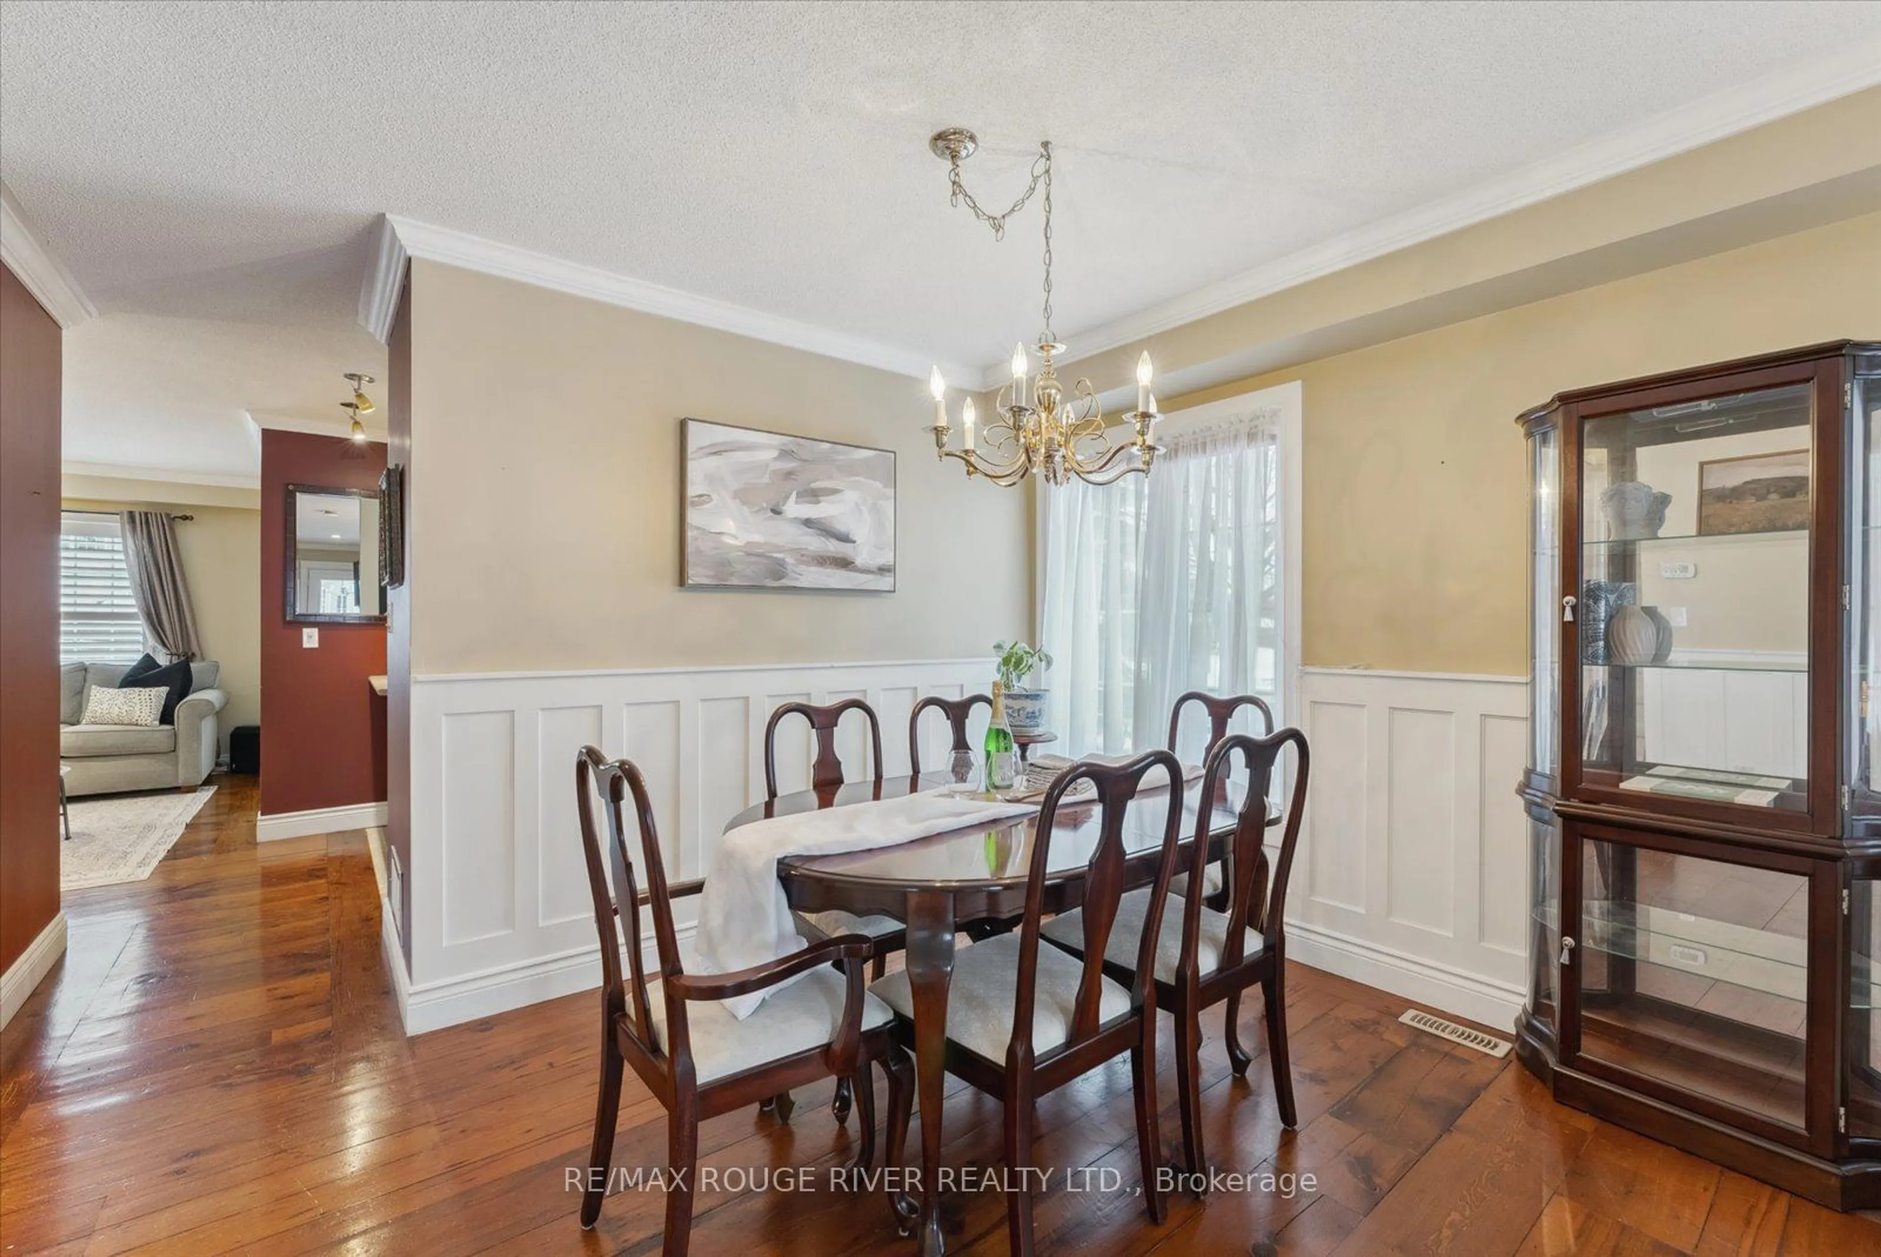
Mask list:
[[[1268,828],[1268,790],[1281,751],[1294,749],[1292,790],[1287,798],[1287,824],[1281,832],[1279,856],[1273,862],[1273,890],[1264,894],[1266,862],[1260,856]],[[1202,866],[1208,862],[1211,811],[1206,800],[1225,787],[1234,756],[1247,768],[1247,798],[1234,822],[1228,843],[1230,869],[1240,869],[1230,881],[1228,911],[1217,913],[1202,899]],[[1268,1014],[1268,1056],[1273,1063],[1273,1101],[1281,1123],[1298,1123],[1292,1093],[1292,1071],[1287,1061],[1287,875],[1292,869],[1294,849],[1300,843],[1300,817],[1305,807],[1309,768],[1305,734],[1283,728],[1266,738],[1228,734],[1215,743],[1202,775],[1204,805],[1196,807],[1194,849],[1189,852],[1189,892],[1170,896],[1181,901],[1178,915],[1155,920],[1161,903],[1149,890],[1123,896],[1115,928],[1102,950],[1104,969],[1117,980],[1142,980],[1144,967],[1155,956],[1155,1001],[1176,1018],[1176,1082],[1181,1091],[1181,1137],[1185,1169],[1200,1176],[1208,1169],[1202,1150],[1202,1010],[1226,1001],[1228,1065],[1236,1076],[1247,1074],[1253,1058],[1241,1048],[1236,1022],[1241,1012],[1241,992],[1260,986]],[[1082,909],[1080,909],[1082,911]],[[1091,956],[1095,943],[1080,920],[1080,911],[1055,916],[1044,926],[1044,935],[1072,956]],[[1155,948],[1144,939],[1155,935]],[[890,1003],[893,1003],[890,999]]]

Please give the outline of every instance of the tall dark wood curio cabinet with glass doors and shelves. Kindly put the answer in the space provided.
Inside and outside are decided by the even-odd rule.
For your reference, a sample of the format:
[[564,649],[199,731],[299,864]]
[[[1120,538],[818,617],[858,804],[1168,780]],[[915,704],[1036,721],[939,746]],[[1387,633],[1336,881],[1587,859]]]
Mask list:
[[1520,423],[1520,1058],[1567,1105],[1877,1208],[1881,344],[1576,390]]

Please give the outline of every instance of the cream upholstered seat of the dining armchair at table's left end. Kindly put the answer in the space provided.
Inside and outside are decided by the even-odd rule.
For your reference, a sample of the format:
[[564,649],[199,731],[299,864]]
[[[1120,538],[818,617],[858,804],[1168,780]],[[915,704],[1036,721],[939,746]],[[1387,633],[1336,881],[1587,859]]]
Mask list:
[[[730,1078],[747,1069],[781,1061],[798,1052],[826,1046],[843,1024],[846,984],[835,969],[811,969],[788,986],[781,986],[743,1022],[726,1012],[722,1003],[694,1001],[687,1005],[687,1029],[692,1035],[692,1069],[698,1082]],[[653,1014],[655,1046],[666,1048],[666,997],[658,984],[647,994],[647,1012]],[[861,1031],[886,1026],[893,1014],[875,995],[861,997]]]

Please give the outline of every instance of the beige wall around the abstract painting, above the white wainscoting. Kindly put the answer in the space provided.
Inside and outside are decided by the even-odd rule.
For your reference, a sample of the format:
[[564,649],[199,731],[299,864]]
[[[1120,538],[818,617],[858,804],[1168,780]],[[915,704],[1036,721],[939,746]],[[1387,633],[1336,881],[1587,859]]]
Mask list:
[[[1027,495],[922,380],[412,263],[410,668],[959,659],[1031,630]],[[679,587],[683,416],[897,453],[895,593]]]

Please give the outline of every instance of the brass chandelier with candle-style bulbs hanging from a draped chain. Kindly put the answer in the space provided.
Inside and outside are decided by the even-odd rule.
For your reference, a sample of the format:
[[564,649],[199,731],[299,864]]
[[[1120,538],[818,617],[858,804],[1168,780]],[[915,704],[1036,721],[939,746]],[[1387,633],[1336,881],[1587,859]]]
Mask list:
[[1051,141],[1038,145],[1038,158],[1033,162],[1033,181],[1006,213],[988,215],[972,199],[959,177],[959,164],[980,147],[978,137],[959,126],[950,126],[927,141],[935,156],[948,167],[952,203],[967,203],[974,218],[993,230],[993,239],[1004,239],[1006,218],[1018,213],[1033,194],[1044,188],[1044,331],[1038,333],[1038,374],[1031,376],[1025,344],[1012,346],[1012,382],[1001,386],[995,399],[995,414],[978,435],[976,444],[972,397],[961,405],[961,444],[948,448],[952,425],[946,416],[946,380],[935,367],[927,376],[927,386],[935,397],[935,450],[942,459],[959,459],[967,467],[967,476],[986,476],[997,485],[1016,485],[1031,474],[1044,476],[1046,484],[1070,484],[1076,476],[1087,484],[1112,484],[1130,472],[1149,474],[1149,465],[1162,452],[1155,444],[1157,399],[1149,391],[1151,365],[1146,352],[1136,361],[1136,410],[1123,418],[1134,429],[1134,438],[1114,440],[1104,431],[1104,408],[1097,401],[1089,380],[1078,380],[1072,395],[1065,395],[1053,371],[1053,358],[1065,352],[1051,331]]

